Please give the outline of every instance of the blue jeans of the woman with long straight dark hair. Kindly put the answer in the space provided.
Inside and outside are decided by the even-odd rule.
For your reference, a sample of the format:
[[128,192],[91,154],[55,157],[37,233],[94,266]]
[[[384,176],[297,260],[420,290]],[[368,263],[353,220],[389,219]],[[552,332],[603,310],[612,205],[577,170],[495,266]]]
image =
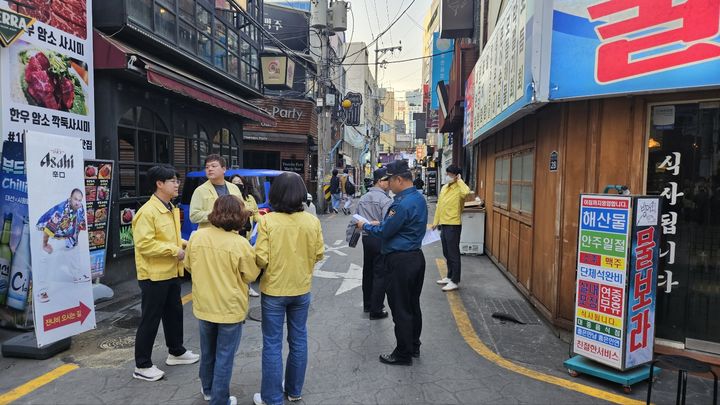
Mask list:
[[293,397],[302,396],[307,369],[307,317],[310,293],[296,297],[262,295],[262,386],[260,395],[268,405],[282,404],[283,323],[287,314],[290,353],[285,368],[285,391]]

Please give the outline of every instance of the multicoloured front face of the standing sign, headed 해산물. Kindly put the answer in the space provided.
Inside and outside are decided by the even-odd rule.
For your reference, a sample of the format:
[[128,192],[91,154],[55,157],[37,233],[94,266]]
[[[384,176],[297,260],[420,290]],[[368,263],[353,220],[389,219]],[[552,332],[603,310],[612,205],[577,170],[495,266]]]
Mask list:
[[573,352],[623,368],[631,198],[581,195]]

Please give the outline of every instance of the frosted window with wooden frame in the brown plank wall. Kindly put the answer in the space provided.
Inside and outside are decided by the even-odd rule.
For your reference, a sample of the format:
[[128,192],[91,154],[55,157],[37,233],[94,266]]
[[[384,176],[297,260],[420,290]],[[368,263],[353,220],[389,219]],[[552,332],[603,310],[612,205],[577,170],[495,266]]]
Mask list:
[[533,150],[497,157],[493,205],[523,215],[532,214],[534,164]]

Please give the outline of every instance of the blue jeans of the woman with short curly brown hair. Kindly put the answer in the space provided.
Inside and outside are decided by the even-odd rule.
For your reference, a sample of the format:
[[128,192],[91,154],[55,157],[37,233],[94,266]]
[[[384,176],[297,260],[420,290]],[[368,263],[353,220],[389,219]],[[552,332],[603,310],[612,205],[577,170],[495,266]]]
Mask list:
[[242,323],[200,320],[200,384],[211,405],[227,405],[235,352],[240,346]]

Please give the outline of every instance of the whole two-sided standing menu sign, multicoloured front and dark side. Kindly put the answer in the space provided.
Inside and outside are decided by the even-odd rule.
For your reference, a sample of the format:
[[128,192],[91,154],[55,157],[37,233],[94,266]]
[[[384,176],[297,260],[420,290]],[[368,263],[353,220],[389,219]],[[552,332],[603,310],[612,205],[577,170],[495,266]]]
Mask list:
[[659,197],[580,196],[573,352],[618,370],[652,360]]

